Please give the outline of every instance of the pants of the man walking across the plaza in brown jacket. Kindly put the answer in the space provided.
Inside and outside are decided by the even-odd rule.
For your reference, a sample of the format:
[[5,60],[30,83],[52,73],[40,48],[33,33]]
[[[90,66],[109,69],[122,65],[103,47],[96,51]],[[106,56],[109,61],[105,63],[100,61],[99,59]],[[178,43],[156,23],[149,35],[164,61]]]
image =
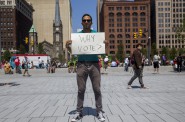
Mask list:
[[130,81],[128,82],[128,85],[131,85],[132,82],[138,77],[139,79],[139,83],[141,85],[141,87],[144,87],[143,84],[143,69],[134,69],[134,75],[132,76],[132,78],[130,79]]

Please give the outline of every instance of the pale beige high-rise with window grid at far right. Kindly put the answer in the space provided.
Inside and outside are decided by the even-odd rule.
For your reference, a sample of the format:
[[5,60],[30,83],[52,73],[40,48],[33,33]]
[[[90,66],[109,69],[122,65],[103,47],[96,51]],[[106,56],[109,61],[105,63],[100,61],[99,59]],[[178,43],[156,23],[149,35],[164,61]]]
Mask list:
[[[159,51],[163,47],[184,48],[185,42],[176,35],[178,27],[185,18],[184,0],[156,0],[156,45]],[[182,34],[185,34],[183,32]]]

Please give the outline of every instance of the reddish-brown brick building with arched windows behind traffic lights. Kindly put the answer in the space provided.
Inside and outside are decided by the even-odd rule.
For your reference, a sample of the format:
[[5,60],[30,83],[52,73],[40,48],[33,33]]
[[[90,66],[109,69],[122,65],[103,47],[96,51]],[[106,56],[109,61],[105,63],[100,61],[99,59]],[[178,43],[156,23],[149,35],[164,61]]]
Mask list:
[[150,54],[150,0],[103,0],[99,19],[98,28],[109,40],[108,55],[131,55],[138,43]]

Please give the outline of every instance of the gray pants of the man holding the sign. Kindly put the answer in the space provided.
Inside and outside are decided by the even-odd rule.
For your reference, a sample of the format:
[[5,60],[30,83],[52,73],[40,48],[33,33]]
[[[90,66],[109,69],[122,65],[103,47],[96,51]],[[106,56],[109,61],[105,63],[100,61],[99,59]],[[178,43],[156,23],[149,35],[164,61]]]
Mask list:
[[102,111],[102,95],[100,90],[100,68],[98,63],[78,63],[77,65],[77,85],[78,85],[78,101],[77,101],[77,112],[82,112],[84,94],[86,90],[86,82],[88,76],[91,79],[95,101],[96,101],[96,111]]

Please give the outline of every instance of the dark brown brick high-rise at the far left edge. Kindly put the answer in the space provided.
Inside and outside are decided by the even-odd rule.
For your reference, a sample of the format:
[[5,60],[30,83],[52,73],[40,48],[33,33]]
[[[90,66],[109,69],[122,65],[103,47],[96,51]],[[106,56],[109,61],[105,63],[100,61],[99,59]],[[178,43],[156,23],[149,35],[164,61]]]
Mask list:
[[0,0],[0,37],[2,50],[28,49],[25,38],[33,23],[33,7],[25,0]]

